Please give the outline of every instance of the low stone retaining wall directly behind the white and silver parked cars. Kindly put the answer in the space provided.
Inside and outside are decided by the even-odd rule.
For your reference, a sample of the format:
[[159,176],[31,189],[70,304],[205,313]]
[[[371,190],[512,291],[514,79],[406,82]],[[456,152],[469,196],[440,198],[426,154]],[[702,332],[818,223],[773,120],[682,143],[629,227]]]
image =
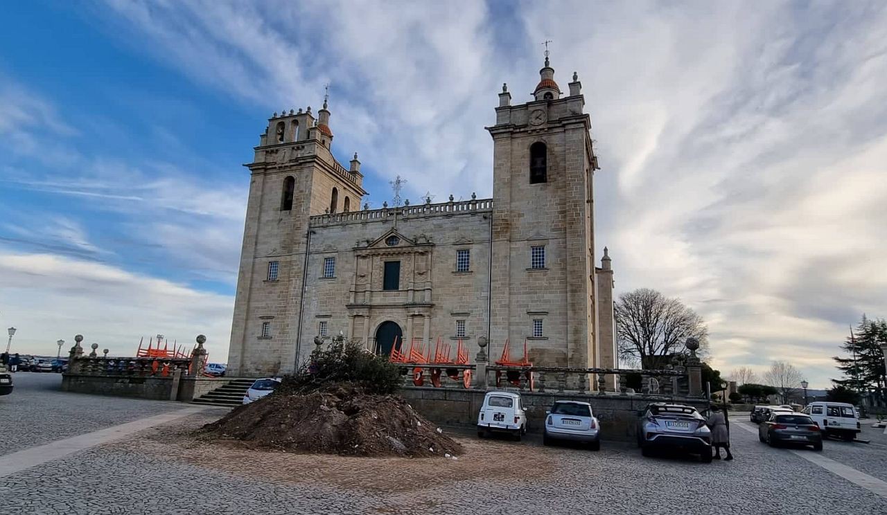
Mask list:
[[[441,425],[475,427],[477,413],[483,404],[483,390],[455,388],[404,387],[400,394],[424,417]],[[702,410],[708,402],[700,398],[665,398],[641,395],[597,395],[569,393],[520,392],[527,408],[530,433],[542,433],[546,410],[554,401],[582,401],[592,405],[594,416],[600,421],[600,436],[609,441],[634,441],[638,411],[649,402],[679,402]]]

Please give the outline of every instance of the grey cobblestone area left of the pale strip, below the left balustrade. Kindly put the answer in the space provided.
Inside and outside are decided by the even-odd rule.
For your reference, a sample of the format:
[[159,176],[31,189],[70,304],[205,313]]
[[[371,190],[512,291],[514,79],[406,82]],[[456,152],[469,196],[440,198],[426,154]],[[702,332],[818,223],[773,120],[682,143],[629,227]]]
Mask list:
[[17,372],[12,381],[12,394],[0,396],[0,456],[182,408],[179,402],[69,394],[59,389],[58,373]]

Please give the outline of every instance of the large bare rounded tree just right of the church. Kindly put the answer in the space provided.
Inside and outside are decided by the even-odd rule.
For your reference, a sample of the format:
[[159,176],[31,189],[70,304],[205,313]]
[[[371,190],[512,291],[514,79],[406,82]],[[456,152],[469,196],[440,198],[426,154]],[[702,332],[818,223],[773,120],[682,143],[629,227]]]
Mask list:
[[687,354],[685,342],[699,340],[702,354],[708,348],[708,329],[703,317],[696,315],[678,299],[640,288],[623,293],[616,301],[616,335],[619,358],[624,363],[647,366],[650,356]]

